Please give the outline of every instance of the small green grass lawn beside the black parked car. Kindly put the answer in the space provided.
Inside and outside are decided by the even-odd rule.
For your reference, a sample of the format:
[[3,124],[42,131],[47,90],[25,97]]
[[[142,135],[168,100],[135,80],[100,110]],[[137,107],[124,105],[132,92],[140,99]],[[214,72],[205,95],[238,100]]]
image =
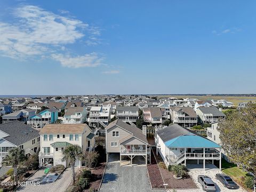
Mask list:
[[231,177],[245,177],[247,173],[242,169],[239,169],[235,164],[225,161],[225,159],[221,159],[221,168],[223,173],[230,175]]

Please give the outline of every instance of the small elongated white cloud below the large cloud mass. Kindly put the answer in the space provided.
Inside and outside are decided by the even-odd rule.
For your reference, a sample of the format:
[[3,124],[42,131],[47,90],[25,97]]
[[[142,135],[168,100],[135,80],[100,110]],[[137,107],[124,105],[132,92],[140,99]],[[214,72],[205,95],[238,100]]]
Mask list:
[[63,67],[69,68],[97,67],[101,65],[101,62],[104,59],[94,52],[77,57],[63,54],[52,54],[51,56],[52,59],[59,61]]

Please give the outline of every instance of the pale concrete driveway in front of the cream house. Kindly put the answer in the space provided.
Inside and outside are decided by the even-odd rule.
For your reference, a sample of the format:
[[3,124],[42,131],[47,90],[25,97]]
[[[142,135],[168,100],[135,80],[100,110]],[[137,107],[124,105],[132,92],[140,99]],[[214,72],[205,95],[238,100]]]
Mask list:
[[[41,181],[45,177],[44,169],[38,170],[28,181]],[[22,186],[17,191],[25,192],[64,192],[71,181],[71,168],[67,168],[55,182],[40,183],[38,186]]]

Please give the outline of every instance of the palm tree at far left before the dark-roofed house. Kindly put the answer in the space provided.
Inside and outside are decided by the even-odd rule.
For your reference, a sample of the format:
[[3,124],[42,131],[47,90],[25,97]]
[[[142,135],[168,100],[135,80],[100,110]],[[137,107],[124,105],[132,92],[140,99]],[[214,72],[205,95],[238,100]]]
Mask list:
[[12,166],[13,167],[13,177],[14,182],[16,181],[16,175],[18,171],[18,166],[26,160],[25,150],[15,147],[11,149],[3,159],[4,166]]

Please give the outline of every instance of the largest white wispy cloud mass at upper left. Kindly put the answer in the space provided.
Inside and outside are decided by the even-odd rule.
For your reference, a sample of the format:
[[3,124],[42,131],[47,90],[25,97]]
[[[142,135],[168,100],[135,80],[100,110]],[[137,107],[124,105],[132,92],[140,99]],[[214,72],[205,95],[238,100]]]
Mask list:
[[[61,13],[68,13],[60,10]],[[89,26],[78,19],[63,17],[50,11],[45,11],[38,6],[22,5],[15,8],[10,15],[12,21],[0,20],[0,55],[15,59],[28,59],[33,57],[51,57],[60,51],[65,51],[65,45],[73,44],[78,39],[83,39],[88,45],[100,43],[100,29]],[[81,60],[89,63],[95,59],[95,53],[85,54],[81,57],[69,57],[78,61],[77,64],[66,64],[67,67],[85,67]],[[55,56],[56,58],[56,56]],[[59,59],[60,60],[60,59]],[[99,62],[95,59],[94,66]]]

